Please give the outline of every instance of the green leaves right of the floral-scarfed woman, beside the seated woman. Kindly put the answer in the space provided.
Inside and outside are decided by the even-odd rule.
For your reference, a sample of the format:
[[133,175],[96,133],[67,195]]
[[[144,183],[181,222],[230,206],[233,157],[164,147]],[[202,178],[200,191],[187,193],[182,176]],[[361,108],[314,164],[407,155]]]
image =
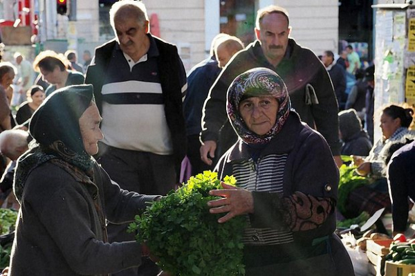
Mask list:
[[[343,158],[343,157],[342,157]],[[340,167],[340,182],[338,190],[338,210],[346,213],[346,203],[349,193],[358,187],[369,184],[369,179],[356,174],[356,166],[342,165]]]

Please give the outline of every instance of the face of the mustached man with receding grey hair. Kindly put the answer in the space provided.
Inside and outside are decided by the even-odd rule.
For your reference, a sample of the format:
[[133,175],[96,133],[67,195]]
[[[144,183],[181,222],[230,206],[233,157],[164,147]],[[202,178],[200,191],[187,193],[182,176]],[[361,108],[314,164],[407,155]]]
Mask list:
[[267,59],[282,59],[288,46],[288,21],[284,15],[271,13],[262,18],[261,30],[255,28],[257,39],[261,42],[261,48]]

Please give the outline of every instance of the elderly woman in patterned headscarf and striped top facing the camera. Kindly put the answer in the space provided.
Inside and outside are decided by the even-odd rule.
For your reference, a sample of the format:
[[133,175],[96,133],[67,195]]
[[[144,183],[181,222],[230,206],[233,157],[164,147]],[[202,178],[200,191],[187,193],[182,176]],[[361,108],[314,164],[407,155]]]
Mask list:
[[239,140],[219,160],[212,190],[219,223],[246,215],[246,276],[354,275],[335,231],[339,174],[326,140],[291,111],[281,77],[268,68],[239,75],[228,89],[228,117]]

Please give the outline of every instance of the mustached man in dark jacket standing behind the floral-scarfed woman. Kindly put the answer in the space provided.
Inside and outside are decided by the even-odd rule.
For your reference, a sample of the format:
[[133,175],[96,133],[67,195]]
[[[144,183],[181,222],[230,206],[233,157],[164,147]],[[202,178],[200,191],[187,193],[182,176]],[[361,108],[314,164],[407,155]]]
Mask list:
[[201,158],[205,163],[212,164],[218,141],[221,155],[237,140],[226,115],[226,91],[237,75],[255,67],[270,68],[282,77],[302,121],[320,131],[336,163],[342,163],[338,103],[329,74],[311,50],[288,39],[290,30],[284,8],[268,6],[258,11],[257,41],[240,51],[224,68],[205,102],[201,134]]

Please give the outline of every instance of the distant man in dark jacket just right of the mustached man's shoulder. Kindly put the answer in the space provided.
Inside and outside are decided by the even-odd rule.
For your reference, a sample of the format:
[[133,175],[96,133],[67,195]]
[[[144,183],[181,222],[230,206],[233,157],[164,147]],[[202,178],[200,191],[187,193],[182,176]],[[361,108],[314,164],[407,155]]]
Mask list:
[[331,82],[335,92],[335,97],[338,99],[339,109],[344,109],[346,104],[346,71],[342,66],[337,64],[334,60],[334,54],[331,50],[325,50],[322,55],[322,62],[329,72]]

